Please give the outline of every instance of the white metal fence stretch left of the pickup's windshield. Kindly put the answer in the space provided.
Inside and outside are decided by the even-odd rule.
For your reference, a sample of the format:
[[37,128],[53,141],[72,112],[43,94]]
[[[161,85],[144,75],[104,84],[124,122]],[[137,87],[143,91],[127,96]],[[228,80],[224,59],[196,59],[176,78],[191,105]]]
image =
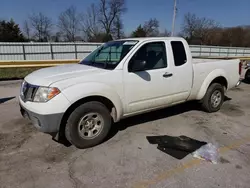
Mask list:
[[101,44],[82,42],[0,42],[0,60],[82,59]]

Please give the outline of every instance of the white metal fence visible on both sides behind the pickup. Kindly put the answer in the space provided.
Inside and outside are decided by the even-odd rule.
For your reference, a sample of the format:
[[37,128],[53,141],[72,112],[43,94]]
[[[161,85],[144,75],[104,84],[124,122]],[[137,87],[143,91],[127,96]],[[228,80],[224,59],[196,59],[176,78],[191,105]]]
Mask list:
[[[81,59],[102,43],[0,43],[0,60]],[[250,56],[250,48],[190,45],[193,56]]]

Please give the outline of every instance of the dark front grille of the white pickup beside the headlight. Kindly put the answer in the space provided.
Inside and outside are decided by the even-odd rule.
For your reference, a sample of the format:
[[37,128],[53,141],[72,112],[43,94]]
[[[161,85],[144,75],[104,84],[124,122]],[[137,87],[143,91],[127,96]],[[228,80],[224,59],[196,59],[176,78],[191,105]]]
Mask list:
[[21,98],[23,101],[32,101],[38,87],[24,82],[22,85]]

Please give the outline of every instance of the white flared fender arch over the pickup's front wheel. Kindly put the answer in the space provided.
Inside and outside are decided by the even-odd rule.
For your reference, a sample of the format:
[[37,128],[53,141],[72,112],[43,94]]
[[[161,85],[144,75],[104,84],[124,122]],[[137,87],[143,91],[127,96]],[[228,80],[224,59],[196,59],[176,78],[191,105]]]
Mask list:
[[91,96],[105,97],[114,104],[117,113],[116,120],[120,120],[120,118],[123,115],[123,104],[120,96],[114,89],[112,89],[112,87],[106,84],[97,82],[76,84],[66,88],[65,90],[62,91],[62,93],[69,100],[71,105],[77,102],[78,100],[86,97],[91,97]]

